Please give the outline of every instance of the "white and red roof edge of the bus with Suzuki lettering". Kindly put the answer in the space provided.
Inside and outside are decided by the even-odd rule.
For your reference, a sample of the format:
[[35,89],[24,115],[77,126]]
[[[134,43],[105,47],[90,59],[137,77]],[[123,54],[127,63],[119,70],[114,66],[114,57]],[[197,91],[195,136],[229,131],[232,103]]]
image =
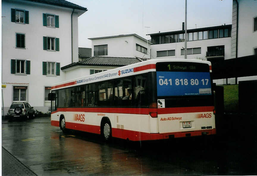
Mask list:
[[135,74],[141,74],[145,72],[156,71],[156,63],[157,62],[196,62],[196,63],[205,63],[209,64],[210,72],[211,72],[211,62],[209,61],[202,61],[199,59],[149,59],[147,61],[142,61],[139,63],[126,65],[123,67],[118,67],[111,70],[106,70],[104,72],[95,73],[92,75],[85,75],[79,78],[71,79],[68,81],[60,82],[57,84],[52,85],[51,89],[62,89],[66,87],[73,87],[76,85],[83,85],[98,81],[105,81],[114,78],[120,78]]

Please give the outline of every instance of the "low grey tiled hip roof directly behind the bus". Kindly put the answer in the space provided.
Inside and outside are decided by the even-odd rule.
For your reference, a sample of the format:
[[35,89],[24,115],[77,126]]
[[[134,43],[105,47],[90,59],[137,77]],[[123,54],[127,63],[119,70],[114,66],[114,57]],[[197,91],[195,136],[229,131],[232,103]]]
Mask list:
[[98,57],[93,56],[91,58],[83,59],[79,62],[61,67],[61,70],[65,70],[75,66],[109,66],[109,67],[122,67],[138,62],[146,61],[147,59],[142,58],[124,58],[124,57]]

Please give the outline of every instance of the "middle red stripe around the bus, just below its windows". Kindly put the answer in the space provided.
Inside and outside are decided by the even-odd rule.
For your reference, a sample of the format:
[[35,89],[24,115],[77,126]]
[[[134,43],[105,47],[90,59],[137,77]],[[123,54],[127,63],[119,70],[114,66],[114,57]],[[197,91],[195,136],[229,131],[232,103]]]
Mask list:
[[188,112],[212,112],[214,106],[177,107],[177,108],[57,108],[57,112],[98,112],[98,113],[122,113],[122,114],[145,114],[157,112],[158,114],[175,114]]

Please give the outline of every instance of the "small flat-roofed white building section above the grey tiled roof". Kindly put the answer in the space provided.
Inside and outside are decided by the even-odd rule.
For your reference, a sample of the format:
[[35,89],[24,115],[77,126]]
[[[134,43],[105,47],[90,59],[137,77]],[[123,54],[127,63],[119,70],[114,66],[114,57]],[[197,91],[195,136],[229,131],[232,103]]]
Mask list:
[[92,56],[150,58],[150,41],[137,34],[88,38]]

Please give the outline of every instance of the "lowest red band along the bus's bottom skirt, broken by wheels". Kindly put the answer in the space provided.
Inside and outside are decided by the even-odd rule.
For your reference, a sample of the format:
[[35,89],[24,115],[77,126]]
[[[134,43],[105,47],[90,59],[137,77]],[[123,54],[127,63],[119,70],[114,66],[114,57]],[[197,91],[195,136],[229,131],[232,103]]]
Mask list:
[[[59,126],[59,121],[51,121],[51,125]],[[96,126],[96,125],[86,125],[81,123],[66,122],[65,126],[68,129],[101,134],[100,126]],[[216,129],[160,134],[160,133],[146,133],[146,132],[126,130],[126,129],[112,128],[112,137],[129,139],[131,141],[146,141],[146,140],[168,139],[170,138],[170,135],[172,135],[171,138],[183,138],[183,137],[187,137],[188,134],[190,134],[190,136],[200,136],[202,135],[203,132],[205,132],[206,135],[214,135],[216,134]]]

